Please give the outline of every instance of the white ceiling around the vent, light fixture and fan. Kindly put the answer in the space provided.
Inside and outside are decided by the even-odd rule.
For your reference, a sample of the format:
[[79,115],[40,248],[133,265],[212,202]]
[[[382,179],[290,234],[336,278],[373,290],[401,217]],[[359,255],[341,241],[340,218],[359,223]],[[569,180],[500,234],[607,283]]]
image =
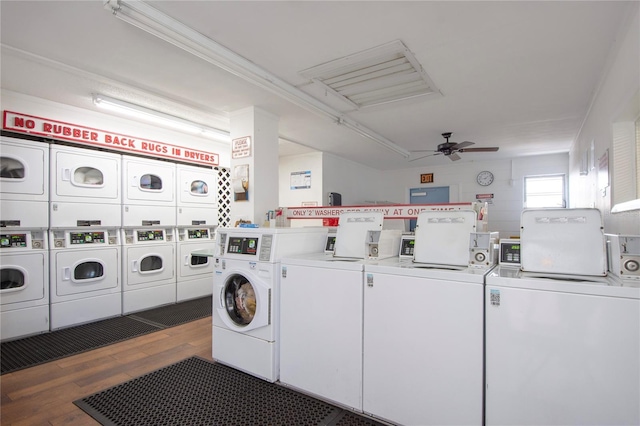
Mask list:
[[[335,107],[300,71],[401,40],[442,96],[349,110],[407,150],[497,146],[479,161],[567,152],[633,2],[151,1],[150,5]],[[313,148],[380,170],[409,162],[330,119],[112,15],[100,0],[0,1],[2,88],[95,109],[92,93],[229,129],[251,105],[280,118],[280,155]]]

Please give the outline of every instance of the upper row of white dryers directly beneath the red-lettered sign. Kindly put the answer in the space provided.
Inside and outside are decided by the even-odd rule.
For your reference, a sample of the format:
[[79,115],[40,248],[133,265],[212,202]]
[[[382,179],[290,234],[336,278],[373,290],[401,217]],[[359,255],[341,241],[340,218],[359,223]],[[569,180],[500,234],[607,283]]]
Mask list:
[[211,169],[6,137],[0,161],[6,227],[217,225]]

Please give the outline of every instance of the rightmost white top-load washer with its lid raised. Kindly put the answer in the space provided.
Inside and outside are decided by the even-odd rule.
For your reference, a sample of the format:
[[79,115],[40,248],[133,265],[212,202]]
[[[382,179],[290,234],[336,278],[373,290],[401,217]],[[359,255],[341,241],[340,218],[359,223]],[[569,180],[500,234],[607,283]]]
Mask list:
[[605,276],[600,212],[524,211],[520,250],[487,277],[486,424],[640,424],[640,283]]

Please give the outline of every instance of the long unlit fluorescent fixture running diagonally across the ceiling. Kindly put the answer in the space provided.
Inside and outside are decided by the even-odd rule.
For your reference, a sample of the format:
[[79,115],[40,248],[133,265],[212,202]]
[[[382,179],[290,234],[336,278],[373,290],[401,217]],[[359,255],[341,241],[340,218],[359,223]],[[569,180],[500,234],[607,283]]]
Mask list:
[[[313,96],[271,74],[253,62],[236,54],[232,50],[216,43],[193,28],[179,22],[139,0],[104,0],[104,7],[114,16],[134,25],[156,37],[173,44],[233,75],[241,77],[258,87],[269,90],[294,104],[340,123],[353,124],[348,126],[360,134],[365,132],[368,138],[381,146],[391,149],[404,157],[409,152],[392,141],[379,138],[372,130],[343,116],[341,111],[320,102]],[[356,128],[358,130],[356,130]]]

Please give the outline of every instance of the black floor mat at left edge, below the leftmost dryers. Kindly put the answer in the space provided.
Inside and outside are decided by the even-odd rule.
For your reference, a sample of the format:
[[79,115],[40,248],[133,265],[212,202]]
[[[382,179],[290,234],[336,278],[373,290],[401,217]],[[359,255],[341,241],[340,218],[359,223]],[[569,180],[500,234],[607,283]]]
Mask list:
[[160,329],[132,318],[116,317],[3,342],[0,344],[0,374],[33,367]]

